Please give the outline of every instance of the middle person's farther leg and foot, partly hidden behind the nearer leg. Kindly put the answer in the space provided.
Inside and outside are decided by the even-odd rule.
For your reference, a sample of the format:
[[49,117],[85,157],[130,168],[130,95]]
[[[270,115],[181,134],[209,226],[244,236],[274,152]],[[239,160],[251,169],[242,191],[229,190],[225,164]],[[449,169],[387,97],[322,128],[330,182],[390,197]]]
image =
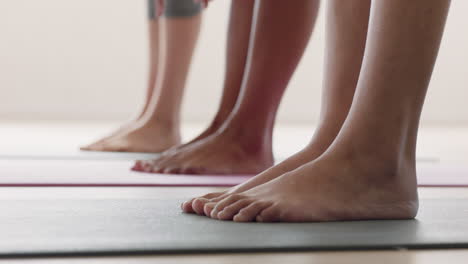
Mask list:
[[176,146],[156,160],[137,161],[134,170],[158,172],[157,168],[168,160],[177,159],[186,147],[198,144],[216,132],[231,113],[239,95],[244,76],[252,27],[254,1],[232,1],[226,47],[226,67],[223,94],[218,112],[211,124],[190,142]]

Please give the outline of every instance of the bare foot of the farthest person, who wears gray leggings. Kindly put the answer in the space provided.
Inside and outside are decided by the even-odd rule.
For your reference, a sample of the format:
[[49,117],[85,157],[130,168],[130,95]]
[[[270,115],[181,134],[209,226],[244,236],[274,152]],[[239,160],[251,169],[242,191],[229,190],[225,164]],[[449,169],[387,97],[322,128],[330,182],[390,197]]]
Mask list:
[[163,152],[180,144],[178,129],[155,122],[134,121],[113,135],[82,147],[88,151]]

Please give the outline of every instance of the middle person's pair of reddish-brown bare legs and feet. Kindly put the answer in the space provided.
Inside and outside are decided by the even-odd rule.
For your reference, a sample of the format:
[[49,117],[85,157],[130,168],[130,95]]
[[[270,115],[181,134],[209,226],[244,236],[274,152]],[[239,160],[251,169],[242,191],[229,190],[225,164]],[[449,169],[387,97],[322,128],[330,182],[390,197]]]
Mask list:
[[232,1],[224,92],[214,121],[193,141],[157,160],[139,161],[134,170],[255,174],[272,166],[276,112],[309,41],[318,4]]

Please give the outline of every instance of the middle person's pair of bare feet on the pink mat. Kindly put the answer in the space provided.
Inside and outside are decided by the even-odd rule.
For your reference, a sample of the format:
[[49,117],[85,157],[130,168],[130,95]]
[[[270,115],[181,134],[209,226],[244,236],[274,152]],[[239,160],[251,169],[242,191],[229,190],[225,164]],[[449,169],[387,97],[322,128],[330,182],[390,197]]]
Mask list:
[[173,174],[256,174],[273,165],[271,145],[243,144],[228,133],[215,133],[161,162],[140,161],[136,171]]

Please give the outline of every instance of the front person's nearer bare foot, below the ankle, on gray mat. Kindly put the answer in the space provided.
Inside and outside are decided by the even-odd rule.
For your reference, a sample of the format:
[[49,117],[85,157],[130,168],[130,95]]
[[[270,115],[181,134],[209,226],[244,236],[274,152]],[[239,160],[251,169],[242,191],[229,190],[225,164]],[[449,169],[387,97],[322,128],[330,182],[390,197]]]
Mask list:
[[[366,162],[363,162],[366,160]],[[418,209],[413,162],[332,155],[274,180],[207,203],[210,217],[238,222],[410,219]]]

